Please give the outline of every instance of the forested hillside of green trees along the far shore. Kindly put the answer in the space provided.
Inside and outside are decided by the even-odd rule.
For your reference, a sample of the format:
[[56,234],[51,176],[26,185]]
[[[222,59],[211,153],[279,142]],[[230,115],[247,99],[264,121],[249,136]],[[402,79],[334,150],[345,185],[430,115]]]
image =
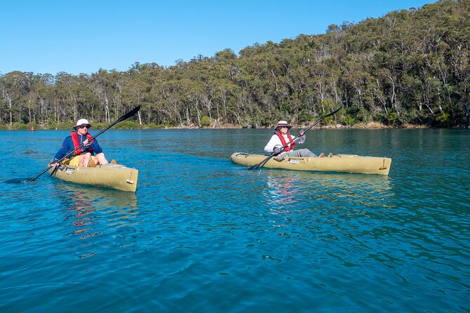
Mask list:
[[344,104],[330,123],[468,127],[469,13],[470,0],[442,0],[238,56],[226,49],[126,72],[0,74],[0,126],[110,123],[142,105],[140,127],[268,127],[310,124]]

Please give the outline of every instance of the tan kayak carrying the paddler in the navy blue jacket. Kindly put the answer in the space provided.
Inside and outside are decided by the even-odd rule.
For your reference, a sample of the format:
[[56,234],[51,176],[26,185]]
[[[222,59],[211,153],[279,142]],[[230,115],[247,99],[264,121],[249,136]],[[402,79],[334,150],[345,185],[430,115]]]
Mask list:
[[138,170],[121,164],[103,164],[96,167],[61,164],[57,170],[54,167],[49,169],[49,173],[61,180],[77,184],[109,187],[125,192],[135,192],[137,188]]

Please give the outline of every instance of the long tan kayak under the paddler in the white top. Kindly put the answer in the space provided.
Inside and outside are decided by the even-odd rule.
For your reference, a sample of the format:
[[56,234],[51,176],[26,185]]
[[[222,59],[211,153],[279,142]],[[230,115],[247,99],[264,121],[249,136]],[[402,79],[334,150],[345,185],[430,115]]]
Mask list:
[[[235,164],[254,166],[268,155],[235,152],[230,159]],[[391,159],[387,157],[334,154],[332,157],[285,156],[282,161],[272,157],[263,167],[295,171],[345,172],[389,175]]]

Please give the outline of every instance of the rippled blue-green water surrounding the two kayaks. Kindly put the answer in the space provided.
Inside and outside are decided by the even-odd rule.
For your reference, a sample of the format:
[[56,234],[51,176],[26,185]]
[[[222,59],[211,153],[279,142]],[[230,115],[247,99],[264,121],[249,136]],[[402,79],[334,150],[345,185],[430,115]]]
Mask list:
[[135,194],[41,172],[67,131],[0,131],[1,312],[470,312],[464,130],[312,130],[381,175],[247,171],[269,130],[110,129]]

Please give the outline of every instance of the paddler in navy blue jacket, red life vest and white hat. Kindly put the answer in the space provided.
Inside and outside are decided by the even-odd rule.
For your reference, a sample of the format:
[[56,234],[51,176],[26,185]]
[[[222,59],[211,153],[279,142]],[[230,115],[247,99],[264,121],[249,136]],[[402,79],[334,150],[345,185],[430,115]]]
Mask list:
[[[64,156],[72,152],[77,147],[84,144],[75,151],[74,155],[79,156],[78,165],[84,167],[95,167],[100,164],[107,164],[107,159],[103,153],[103,149],[98,144],[98,140],[92,139],[92,135],[88,132],[91,128],[91,124],[87,119],[79,119],[77,125],[74,126],[74,131],[69,136],[65,137],[62,146],[54,156],[54,159],[50,162],[51,165],[56,166],[57,161],[62,159]],[[93,156],[96,154],[96,156]]]

